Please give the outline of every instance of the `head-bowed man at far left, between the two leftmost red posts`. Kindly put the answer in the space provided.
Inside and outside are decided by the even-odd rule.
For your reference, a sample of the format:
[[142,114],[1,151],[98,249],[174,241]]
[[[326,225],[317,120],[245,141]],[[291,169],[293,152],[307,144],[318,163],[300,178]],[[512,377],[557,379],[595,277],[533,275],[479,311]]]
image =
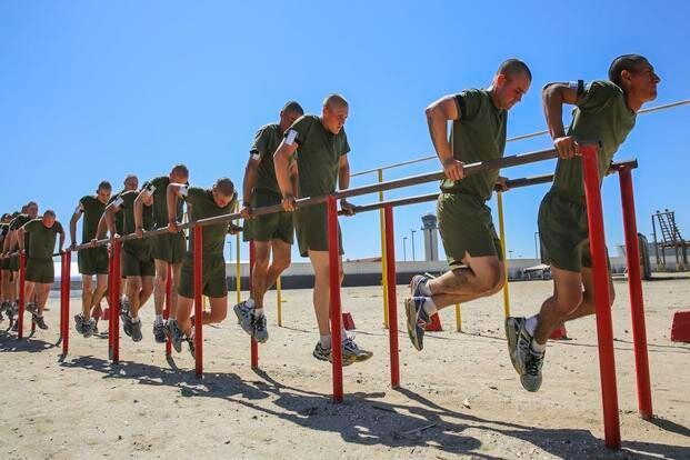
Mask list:
[[[41,329],[48,329],[43,320],[43,309],[48,301],[50,287],[54,281],[54,264],[52,254],[56,249],[56,239],[60,234],[59,252],[64,246],[64,230],[56,220],[54,211],[48,210],[42,219],[33,219],[19,229],[19,250],[27,253],[27,274],[24,299],[36,294],[36,309],[29,310],[33,322]],[[24,236],[29,237],[29,246],[24,246]]]

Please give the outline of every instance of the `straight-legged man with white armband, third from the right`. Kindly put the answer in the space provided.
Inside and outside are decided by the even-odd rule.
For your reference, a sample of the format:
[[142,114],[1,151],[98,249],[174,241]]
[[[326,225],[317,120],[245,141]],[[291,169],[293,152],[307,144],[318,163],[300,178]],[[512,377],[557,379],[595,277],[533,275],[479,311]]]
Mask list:
[[[323,101],[321,117],[300,117],[286,131],[284,139],[273,156],[276,178],[282,193],[282,206],[287,211],[296,210],[296,196],[317,197],[333,193],[336,186],[344,190],[350,186],[350,144],[344,132],[349,104],[339,94],[331,94]],[[290,180],[290,161],[297,154],[299,191],[296,193]],[[343,211],[352,213],[352,206],[340,200]],[[309,257],[314,271],[313,306],[321,339],[313,350],[313,357],[321,361],[331,360],[330,292],[328,228],[326,203],[300,208],[294,216],[294,227],[300,253]],[[340,234],[340,228],[338,228]],[[340,240],[340,254],[342,238]],[[342,258],[338,268],[342,282]],[[364,361],[372,353],[360,349],[352,338],[341,330],[342,363]]]

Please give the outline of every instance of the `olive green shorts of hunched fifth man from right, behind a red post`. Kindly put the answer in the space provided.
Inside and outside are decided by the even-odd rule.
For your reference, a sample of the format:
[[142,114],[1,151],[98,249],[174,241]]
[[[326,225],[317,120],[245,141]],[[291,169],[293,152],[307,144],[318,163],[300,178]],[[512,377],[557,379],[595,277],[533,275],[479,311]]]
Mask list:
[[[201,267],[202,292],[209,298],[228,296],[228,281],[226,279],[226,259],[222,254],[208,257],[203,254]],[[194,271],[193,257],[190,252],[182,260],[180,270],[180,284],[178,293],[188,299],[194,298]]]

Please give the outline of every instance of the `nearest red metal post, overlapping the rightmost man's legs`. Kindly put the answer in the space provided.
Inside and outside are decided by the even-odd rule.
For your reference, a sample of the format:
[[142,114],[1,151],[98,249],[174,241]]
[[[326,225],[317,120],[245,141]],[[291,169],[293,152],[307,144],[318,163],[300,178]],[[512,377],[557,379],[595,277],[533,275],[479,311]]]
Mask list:
[[594,278],[594,302],[597,308],[597,337],[599,341],[599,373],[603,403],[603,431],[606,446],[620,449],[620,420],[618,414],[618,390],[616,387],[616,359],[613,356],[613,327],[609,307],[609,270],[607,266],[603,233],[603,210],[599,183],[599,166],[596,144],[580,146],[587,218],[589,222],[589,247],[592,254]]

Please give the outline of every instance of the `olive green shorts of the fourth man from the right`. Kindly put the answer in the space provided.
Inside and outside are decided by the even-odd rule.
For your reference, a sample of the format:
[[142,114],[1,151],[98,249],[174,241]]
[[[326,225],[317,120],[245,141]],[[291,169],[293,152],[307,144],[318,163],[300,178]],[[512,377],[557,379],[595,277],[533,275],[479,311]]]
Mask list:
[[[252,208],[280,204],[282,197],[270,190],[257,189],[251,198]],[[282,240],[288,244],[294,241],[294,224],[291,212],[274,212],[272,214],[258,216],[244,221],[244,241],[271,241]]]

